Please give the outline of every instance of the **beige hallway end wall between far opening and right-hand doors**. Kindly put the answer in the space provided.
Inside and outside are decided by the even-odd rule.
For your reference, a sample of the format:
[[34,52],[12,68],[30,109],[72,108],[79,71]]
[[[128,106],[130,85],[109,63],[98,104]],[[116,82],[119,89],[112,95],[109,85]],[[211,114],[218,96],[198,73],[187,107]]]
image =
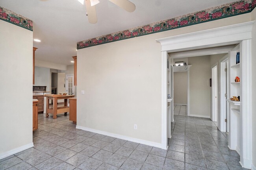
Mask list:
[[190,116],[210,118],[210,56],[189,57]]

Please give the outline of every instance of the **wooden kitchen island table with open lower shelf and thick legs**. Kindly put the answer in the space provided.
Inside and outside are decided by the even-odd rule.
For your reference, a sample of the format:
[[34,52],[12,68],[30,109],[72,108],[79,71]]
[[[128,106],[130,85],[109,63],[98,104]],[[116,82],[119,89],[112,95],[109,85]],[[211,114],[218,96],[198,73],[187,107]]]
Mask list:
[[[69,112],[69,107],[68,107],[68,98],[73,98],[75,95],[66,95],[63,96],[61,94],[45,94],[46,97],[46,117],[49,117],[49,113],[53,115],[53,119],[57,118],[57,114],[60,113],[67,113]],[[64,99],[64,106],[63,107],[58,107],[58,100]],[[49,108],[49,100],[53,100],[52,103],[52,109]]]

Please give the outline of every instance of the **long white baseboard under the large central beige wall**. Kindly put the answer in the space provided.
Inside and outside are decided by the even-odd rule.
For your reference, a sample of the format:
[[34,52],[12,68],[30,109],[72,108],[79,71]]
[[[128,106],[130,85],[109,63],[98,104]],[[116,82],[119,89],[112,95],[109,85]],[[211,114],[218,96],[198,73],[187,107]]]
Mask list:
[[142,140],[142,139],[127,137],[127,136],[118,135],[118,134],[115,134],[115,133],[109,133],[109,132],[106,132],[106,131],[100,131],[100,130],[96,130],[96,129],[91,129],[89,127],[83,127],[83,126],[76,126],[76,129],[90,131],[90,132],[98,133],[98,134],[101,134],[101,135],[106,135],[106,136],[115,137],[115,138],[118,138],[118,139],[128,140],[128,141],[131,141],[131,142],[137,142],[137,143],[140,143],[140,144],[154,146],[156,148],[161,148],[161,143],[151,142],[151,141],[148,141],[148,140]]

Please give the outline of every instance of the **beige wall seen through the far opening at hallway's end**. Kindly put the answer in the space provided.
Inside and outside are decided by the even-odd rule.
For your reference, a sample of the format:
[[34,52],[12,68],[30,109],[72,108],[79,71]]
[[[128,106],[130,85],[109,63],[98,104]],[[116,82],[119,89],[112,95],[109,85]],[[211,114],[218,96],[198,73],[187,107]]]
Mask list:
[[173,103],[187,104],[187,72],[173,73]]

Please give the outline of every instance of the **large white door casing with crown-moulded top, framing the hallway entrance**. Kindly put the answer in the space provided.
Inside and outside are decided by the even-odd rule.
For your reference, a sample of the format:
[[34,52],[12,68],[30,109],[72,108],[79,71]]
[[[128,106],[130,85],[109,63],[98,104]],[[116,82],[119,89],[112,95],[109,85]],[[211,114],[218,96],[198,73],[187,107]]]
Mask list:
[[[198,31],[194,33],[187,33],[156,41],[161,43],[162,53],[162,142],[161,148],[167,149],[167,52],[188,51],[192,49],[210,48],[231,44],[240,44],[242,51],[240,55],[243,56],[242,62],[242,109],[241,114],[241,154],[240,164],[242,167],[251,168],[252,166],[252,95],[250,89],[252,88],[252,73],[251,73],[251,39],[252,39],[252,25],[254,21],[235,24],[231,26],[224,26],[220,28],[213,28],[210,30]],[[165,69],[163,69],[165,68]],[[164,70],[164,71],[163,71]],[[164,92],[164,93],[163,93]],[[163,96],[163,94],[165,94]]]

